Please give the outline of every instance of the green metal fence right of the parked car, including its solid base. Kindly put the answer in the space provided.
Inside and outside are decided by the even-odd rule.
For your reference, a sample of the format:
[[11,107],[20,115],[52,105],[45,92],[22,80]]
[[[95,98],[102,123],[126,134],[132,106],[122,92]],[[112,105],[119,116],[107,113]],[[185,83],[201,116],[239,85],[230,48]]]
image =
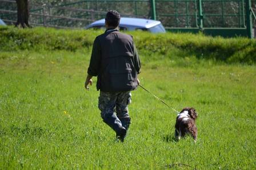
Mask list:
[[[203,31],[210,35],[253,36],[252,27],[253,25],[255,27],[256,19],[253,17],[253,11],[256,9],[254,0],[155,0],[155,2],[157,19],[166,23],[165,27],[170,31]],[[251,5],[247,7],[249,3]],[[247,18],[249,15],[251,18]]]

